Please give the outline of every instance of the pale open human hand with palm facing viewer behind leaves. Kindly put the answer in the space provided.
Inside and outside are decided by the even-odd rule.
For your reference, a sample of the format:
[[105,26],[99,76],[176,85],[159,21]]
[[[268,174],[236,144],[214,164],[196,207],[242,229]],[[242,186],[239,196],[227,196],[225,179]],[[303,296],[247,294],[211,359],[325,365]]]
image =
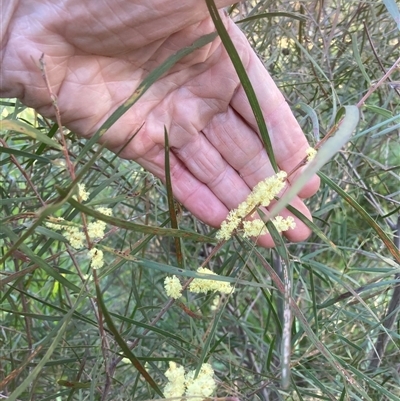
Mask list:
[[[38,68],[44,54],[62,123],[89,138],[171,54],[215,30],[203,1],[4,1],[1,96],[17,97],[55,118]],[[217,1],[218,7],[229,4]],[[222,12],[226,28],[254,85],[277,163],[291,171],[306,157],[305,136],[240,29]],[[103,137],[121,157],[164,180],[164,126],[171,146],[175,197],[197,218],[218,227],[259,181],[274,174],[253,112],[220,40],[185,57],[157,81]],[[296,174],[289,178],[295,180]],[[311,218],[303,199],[319,187],[313,178],[292,205]],[[285,210],[284,217],[290,215]],[[305,240],[296,219],[285,233]],[[273,246],[269,235],[258,239]]]

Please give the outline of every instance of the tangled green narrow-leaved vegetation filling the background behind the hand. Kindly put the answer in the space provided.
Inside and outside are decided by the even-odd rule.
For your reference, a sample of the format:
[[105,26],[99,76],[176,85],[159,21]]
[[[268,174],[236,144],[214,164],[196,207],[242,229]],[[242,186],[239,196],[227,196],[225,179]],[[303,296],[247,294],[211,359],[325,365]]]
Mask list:
[[[381,2],[264,0],[230,11],[313,145],[340,107],[356,104],[399,56],[399,31]],[[0,397],[159,398],[175,361],[186,369],[212,363],[218,397],[399,400],[399,99],[397,70],[322,169],[321,190],[308,202],[319,235],[286,243],[285,258],[240,237],[214,253],[214,230],[180,205],[171,209],[151,174],[66,132],[78,176],[72,181],[57,125],[18,101],[1,101]],[[78,181],[90,193],[83,206],[66,196],[77,193]],[[115,224],[130,225],[107,224],[95,243],[106,264],[92,270],[87,250],[73,249],[46,221],[63,217],[81,227],[95,219],[83,207],[98,206],[112,208]],[[186,232],[178,241],[163,229],[171,220],[174,227],[173,209]],[[172,303],[165,277],[196,276],[212,252],[207,266],[236,283],[235,291],[219,300],[185,293]],[[285,272],[289,337],[283,310],[290,301],[279,291]]]

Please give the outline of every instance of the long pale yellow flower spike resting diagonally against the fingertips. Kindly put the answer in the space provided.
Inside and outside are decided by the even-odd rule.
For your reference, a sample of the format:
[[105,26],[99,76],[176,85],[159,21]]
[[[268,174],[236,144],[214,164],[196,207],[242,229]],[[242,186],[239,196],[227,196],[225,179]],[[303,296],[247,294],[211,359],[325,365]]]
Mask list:
[[229,212],[228,217],[222,222],[216,238],[219,240],[228,240],[249,213],[254,211],[257,207],[267,207],[275,196],[285,187],[286,177],[286,172],[280,171],[276,175],[259,182],[253,188],[253,191],[251,191],[247,199],[242,202],[237,209]]

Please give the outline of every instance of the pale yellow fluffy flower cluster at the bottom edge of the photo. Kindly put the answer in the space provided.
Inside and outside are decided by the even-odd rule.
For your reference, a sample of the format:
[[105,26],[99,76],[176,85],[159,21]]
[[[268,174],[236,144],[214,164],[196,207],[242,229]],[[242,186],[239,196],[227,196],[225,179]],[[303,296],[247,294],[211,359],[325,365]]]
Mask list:
[[188,400],[195,401],[210,397],[216,388],[213,368],[209,363],[203,363],[196,378],[194,378],[195,372],[192,370],[185,375],[182,366],[177,367],[175,362],[170,362],[169,369],[165,372],[168,383],[164,388],[164,396],[182,397],[185,393]]

